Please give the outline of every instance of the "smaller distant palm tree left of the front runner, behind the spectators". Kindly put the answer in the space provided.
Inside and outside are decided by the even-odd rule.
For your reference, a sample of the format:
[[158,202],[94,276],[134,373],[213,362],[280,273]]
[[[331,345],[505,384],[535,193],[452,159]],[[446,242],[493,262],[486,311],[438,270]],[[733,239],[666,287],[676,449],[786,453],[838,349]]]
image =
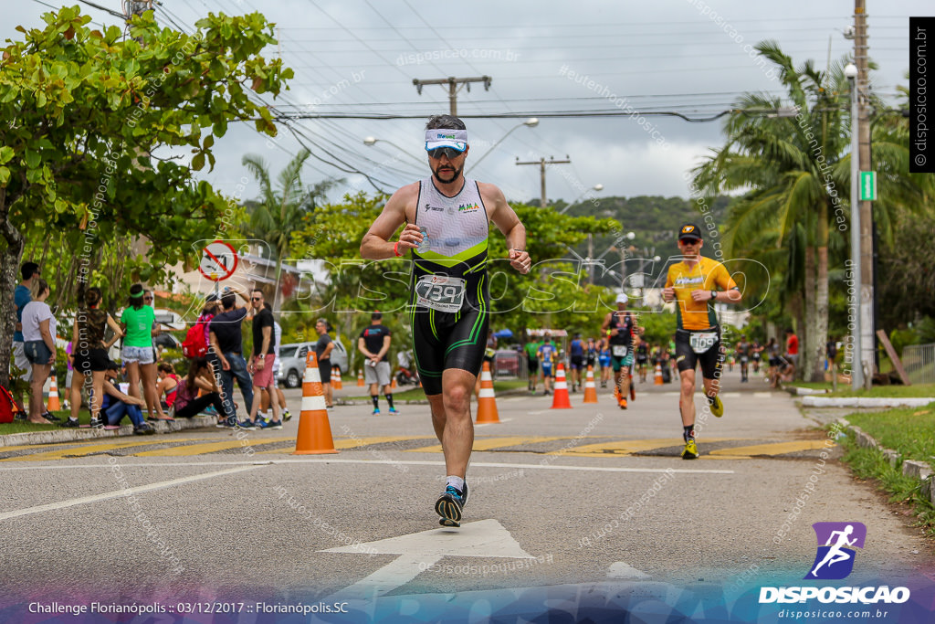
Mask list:
[[266,162],[256,154],[246,154],[242,159],[253,177],[260,184],[260,197],[250,205],[251,235],[266,240],[276,255],[276,285],[273,294],[273,309],[279,310],[282,260],[289,254],[293,233],[307,224],[314,213],[316,200],[336,181],[326,180],[310,187],[301,179],[302,166],[311,152],[303,148],[280,172],[279,188],[273,189]]

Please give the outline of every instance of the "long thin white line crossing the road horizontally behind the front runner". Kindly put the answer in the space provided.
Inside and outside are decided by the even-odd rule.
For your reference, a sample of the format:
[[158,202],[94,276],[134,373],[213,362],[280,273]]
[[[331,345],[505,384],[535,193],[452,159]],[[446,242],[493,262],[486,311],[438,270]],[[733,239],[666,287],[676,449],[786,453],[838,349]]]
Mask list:
[[[419,461],[406,460],[396,461],[394,459],[325,459],[309,457],[307,459],[276,459],[257,464],[255,462],[244,461],[174,461],[158,463],[122,463],[122,468],[163,468],[165,466],[244,466],[248,470],[255,466],[265,466],[266,464],[372,464],[374,466],[432,466],[438,468],[442,465],[439,461]],[[678,472],[679,474],[734,474],[734,471],[722,470],[690,470],[685,468],[622,468],[610,466],[563,466],[563,465],[542,465],[542,464],[506,464],[493,462],[471,462],[471,468],[523,468],[541,471],[584,471],[584,472]],[[54,466],[10,466],[0,467],[0,472],[4,471],[24,471],[24,470],[70,470],[73,468],[108,468],[108,464],[62,464],[59,460]],[[168,482],[166,482],[168,483]],[[2,519],[2,516],[0,516]]]

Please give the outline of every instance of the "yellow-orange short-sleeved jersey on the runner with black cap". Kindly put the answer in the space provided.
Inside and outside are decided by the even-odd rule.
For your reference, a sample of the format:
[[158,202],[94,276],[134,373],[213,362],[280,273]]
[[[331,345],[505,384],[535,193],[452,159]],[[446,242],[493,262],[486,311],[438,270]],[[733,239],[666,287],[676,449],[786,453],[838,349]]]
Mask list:
[[702,255],[700,262],[692,268],[684,262],[669,267],[666,287],[669,286],[675,286],[675,314],[679,329],[707,329],[717,325],[713,302],[696,301],[692,298],[692,291],[730,290],[736,288],[737,283],[724,265]]

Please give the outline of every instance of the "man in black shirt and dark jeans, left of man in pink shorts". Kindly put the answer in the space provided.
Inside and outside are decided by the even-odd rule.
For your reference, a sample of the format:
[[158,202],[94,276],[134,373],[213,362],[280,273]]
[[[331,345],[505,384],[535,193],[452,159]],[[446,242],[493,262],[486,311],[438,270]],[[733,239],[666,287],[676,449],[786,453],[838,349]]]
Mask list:
[[[247,308],[237,306],[237,295],[225,289],[221,297],[223,312],[211,319],[209,337],[211,349],[221,362],[221,399],[224,404],[224,416],[231,426],[237,424],[237,409],[234,407],[234,378],[243,395],[244,405],[253,404],[253,387],[250,373],[247,372],[247,360],[243,358],[243,343],[240,340],[240,326],[247,318]],[[249,422],[249,421],[248,421]]]

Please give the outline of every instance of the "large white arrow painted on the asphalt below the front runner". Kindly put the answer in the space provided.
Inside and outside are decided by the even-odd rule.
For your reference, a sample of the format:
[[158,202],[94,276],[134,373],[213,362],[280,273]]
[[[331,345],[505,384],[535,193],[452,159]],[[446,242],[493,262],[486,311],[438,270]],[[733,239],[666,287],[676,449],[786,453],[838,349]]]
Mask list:
[[494,519],[468,522],[461,525],[460,529],[424,530],[377,542],[328,548],[319,552],[401,555],[367,578],[339,590],[334,597],[343,600],[378,598],[406,585],[443,557],[535,559],[513,539],[510,531]]

